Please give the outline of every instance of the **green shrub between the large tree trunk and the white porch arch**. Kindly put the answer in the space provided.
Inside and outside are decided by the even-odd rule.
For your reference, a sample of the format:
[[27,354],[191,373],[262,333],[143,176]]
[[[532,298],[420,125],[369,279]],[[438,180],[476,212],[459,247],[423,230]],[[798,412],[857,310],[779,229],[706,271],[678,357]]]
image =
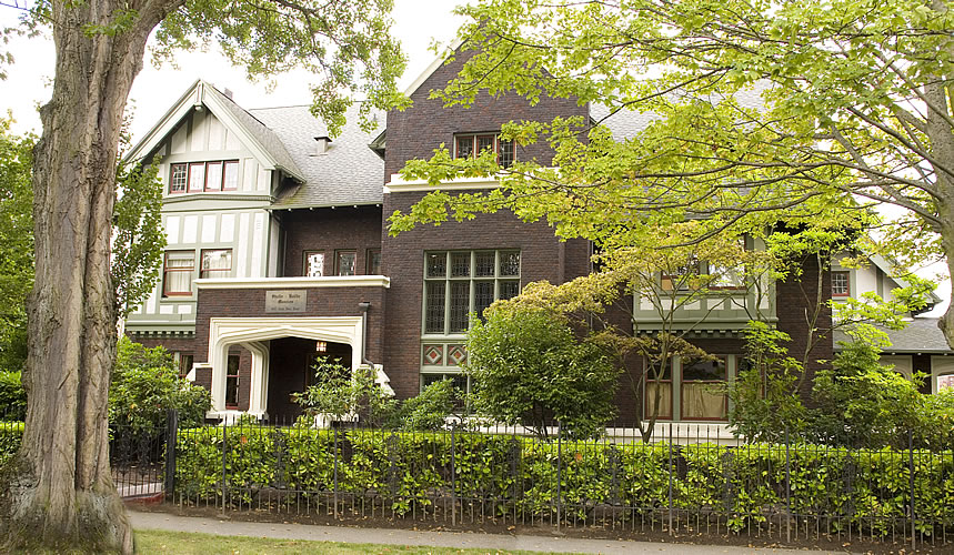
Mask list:
[[170,408],[181,426],[204,422],[211,407],[204,387],[181,380],[165,349],[148,349],[121,337],[109,395],[109,421],[133,432],[153,433],[165,424]]

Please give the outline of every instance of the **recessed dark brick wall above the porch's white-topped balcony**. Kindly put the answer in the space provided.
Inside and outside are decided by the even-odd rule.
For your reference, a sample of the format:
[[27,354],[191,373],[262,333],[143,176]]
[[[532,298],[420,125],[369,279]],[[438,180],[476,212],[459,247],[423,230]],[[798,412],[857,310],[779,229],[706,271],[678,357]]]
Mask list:
[[381,249],[381,206],[339,206],[282,213],[284,275],[304,275],[304,252],[324,252],[324,275],[334,275],[334,251],[358,252],[355,272],[365,274],[368,250]]

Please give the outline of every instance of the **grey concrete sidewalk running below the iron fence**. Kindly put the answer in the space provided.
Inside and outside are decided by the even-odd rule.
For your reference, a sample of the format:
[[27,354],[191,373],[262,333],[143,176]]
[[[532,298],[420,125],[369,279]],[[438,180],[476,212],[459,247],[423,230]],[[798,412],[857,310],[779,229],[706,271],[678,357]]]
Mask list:
[[483,548],[499,551],[536,551],[546,553],[601,553],[606,555],[651,554],[789,554],[804,555],[796,549],[751,548],[734,546],[663,544],[650,542],[617,542],[611,539],[580,539],[569,537],[480,534],[469,532],[415,532],[391,528],[360,528],[344,526],[318,526],[310,524],[275,524],[220,521],[168,513],[140,513],[129,511],[135,529],[164,529],[172,532],[201,532],[223,536],[272,537],[280,539],[311,539],[318,542],[343,542],[352,544],[422,545],[451,548]]

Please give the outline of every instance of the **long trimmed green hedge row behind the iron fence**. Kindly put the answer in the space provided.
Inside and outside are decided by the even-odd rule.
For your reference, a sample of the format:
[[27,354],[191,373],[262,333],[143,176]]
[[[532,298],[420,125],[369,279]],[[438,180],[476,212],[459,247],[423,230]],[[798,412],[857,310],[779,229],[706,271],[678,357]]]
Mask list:
[[[784,445],[544,443],[532,438],[450,433],[308,428],[180,431],[177,494],[222,495],[250,503],[265,488],[381,496],[399,514],[433,508],[453,494],[528,517],[552,512],[559,496],[568,517],[597,506],[669,507],[670,468],[676,509],[719,514],[741,529],[785,511]],[[453,452],[453,472],[452,472]],[[672,456],[672,465],[670,464]],[[792,512],[831,517],[833,527],[887,533],[906,524],[908,452],[852,452],[811,445],[789,450]],[[915,514],[920,532],[954,524],[954,453],[915,451]],[[558,464],[559,460],[559,464]],[[843,518],[842,518],[843,517]]]

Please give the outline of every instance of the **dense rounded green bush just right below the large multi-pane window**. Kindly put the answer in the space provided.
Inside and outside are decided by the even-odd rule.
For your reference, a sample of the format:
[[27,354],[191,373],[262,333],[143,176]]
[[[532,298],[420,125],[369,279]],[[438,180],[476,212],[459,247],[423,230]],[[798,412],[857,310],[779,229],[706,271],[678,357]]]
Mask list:
[[565,317],[545,309],[499,302],[473,317],[468,373],[474,408],[540,437],[560,422],[573,437],[597,435],[615,415],[620,370],[593,342],[581,341]]

